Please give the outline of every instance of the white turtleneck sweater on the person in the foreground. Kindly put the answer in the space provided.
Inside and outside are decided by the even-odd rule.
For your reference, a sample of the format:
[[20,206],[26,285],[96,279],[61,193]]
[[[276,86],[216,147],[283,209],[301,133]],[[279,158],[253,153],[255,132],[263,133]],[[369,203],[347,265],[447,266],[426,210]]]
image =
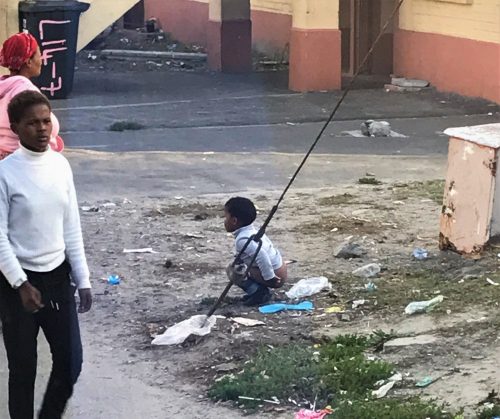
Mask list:
[[49,272],[65,259],[77,287],[90,288],[71,167],[21,146],[0,162],[0,271],[18,288],[23,269]]

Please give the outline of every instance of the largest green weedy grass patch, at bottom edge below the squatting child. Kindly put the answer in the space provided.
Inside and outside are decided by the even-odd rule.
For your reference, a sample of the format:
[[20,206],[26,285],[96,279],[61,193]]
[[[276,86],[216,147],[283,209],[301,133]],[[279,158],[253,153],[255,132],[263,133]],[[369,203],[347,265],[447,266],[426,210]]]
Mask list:
[[[261,348],[243,365],[243,371],[216,381],[209,391],[214,400],[232,400],[257,407],[273,397],[333,407],[335,419],[453,419],[444,407],[418,398],[375,400],[371,391],[394,368],[370,361],[365,352],[386,339],[342,335],[321,346],[287,345]],[[240,396],[258,400],[240,399]]]

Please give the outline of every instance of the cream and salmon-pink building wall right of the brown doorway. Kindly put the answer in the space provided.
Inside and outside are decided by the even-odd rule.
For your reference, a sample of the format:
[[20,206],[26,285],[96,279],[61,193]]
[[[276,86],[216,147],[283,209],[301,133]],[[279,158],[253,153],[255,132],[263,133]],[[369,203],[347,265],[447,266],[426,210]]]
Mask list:
[[500,0],[406,0],[398,26],[398,75],[500,103]]

